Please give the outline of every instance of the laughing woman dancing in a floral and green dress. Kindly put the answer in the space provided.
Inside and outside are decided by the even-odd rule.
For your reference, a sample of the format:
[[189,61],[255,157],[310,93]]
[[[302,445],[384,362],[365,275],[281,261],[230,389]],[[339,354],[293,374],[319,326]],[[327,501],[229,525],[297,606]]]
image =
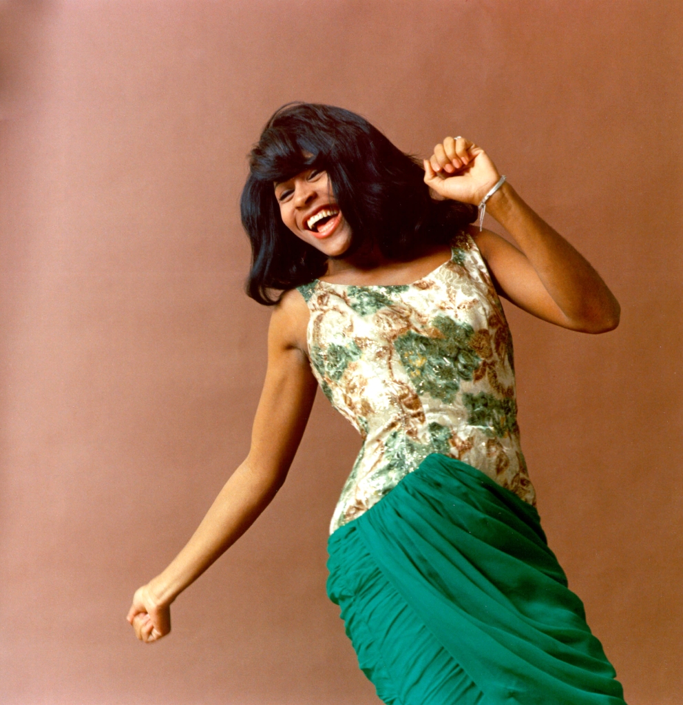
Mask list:
[[[498,298],[601,333],[619,320],[610,290],[465,137],[420,167],[360,116],[290,104],[250,164],[247,288],[274,305],[251,450],[135,593],[137,637],[168,633],[170,603],[275,496],[320,384],[363,436],[327,589],[380,698],[622,704],[534,508]],[[472,226],[477,207],[518,247]]]

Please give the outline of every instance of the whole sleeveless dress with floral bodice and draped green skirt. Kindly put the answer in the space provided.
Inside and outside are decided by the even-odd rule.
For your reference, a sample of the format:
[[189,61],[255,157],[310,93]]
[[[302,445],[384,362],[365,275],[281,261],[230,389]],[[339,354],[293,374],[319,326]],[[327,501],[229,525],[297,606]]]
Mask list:
[[541,529],[512,339],[471,236],[410,285],[299,292],[313,374],[363,438],[327,593],[380,699],[623,705]]

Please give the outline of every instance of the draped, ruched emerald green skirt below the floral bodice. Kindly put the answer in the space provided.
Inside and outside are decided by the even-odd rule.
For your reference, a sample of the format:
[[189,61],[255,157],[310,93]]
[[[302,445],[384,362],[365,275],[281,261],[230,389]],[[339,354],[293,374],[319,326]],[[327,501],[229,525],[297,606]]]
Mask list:
[[429,455],[332,534],[327,594],[388,705],[624,705],[537,510]]

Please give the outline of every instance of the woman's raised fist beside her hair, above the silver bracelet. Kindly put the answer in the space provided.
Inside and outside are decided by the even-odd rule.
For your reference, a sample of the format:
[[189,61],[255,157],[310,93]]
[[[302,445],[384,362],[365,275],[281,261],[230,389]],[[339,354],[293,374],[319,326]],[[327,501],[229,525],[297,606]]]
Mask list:
[[425,183],[439,196],[475,206],[501,178],[489,155],[466,137],[446,137],[424,164]]

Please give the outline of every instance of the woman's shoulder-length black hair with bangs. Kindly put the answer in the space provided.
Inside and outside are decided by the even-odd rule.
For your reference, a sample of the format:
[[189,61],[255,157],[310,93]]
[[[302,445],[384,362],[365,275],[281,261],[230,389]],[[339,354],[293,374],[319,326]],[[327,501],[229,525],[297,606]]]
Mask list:
[[265,305],[327,268],[327,255],[284,225],[275,199],[275,182],[301,171],[327,171],[351,227],[347,252],[372,238],[385,257],[405,261],[430,245],[451,242],[477,217],[475,206],[432,199],[413,157],[365,118],[334,106],[297,102],[275,111],[249,154],[249,168],[240,203],[251,240],[246,293]]

